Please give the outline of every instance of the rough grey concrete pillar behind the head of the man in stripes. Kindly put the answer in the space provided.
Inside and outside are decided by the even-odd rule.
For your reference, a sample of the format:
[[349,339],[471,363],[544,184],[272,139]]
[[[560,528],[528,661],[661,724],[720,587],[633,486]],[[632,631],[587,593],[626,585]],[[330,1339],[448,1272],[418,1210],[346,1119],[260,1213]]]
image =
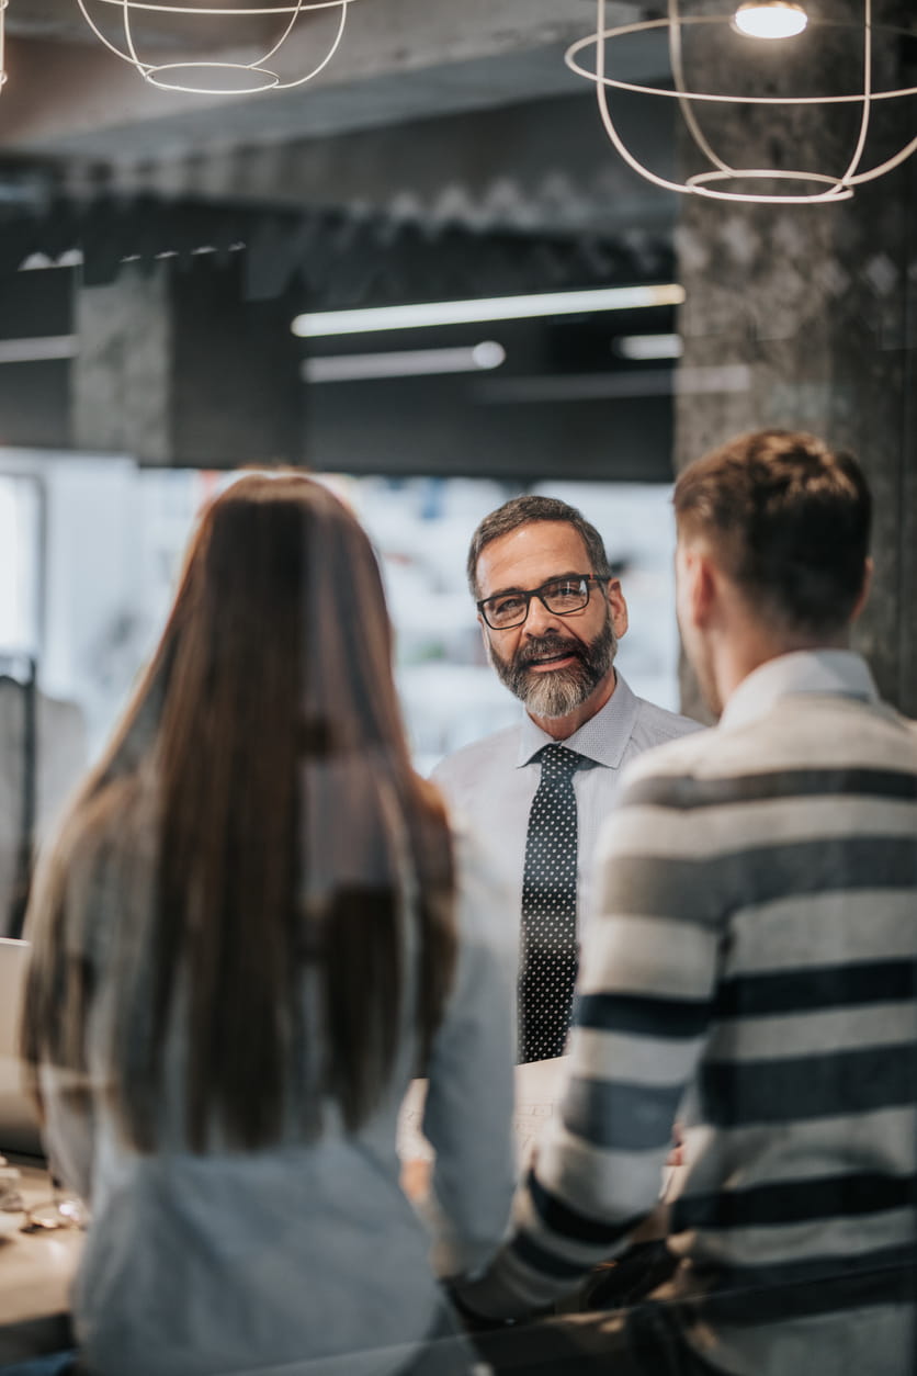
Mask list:
[[[819,6],[807,6],[817,14]],[[821,12],[858,22],[862,0],[822,0]],[[907,25],[909,0],[877,4]],[[770,94],[862,89],[859,40],[814,29],[806,47],[756,44]],[[730,33],[692,54],[689,84],[736,89]],[[782,52],[781,52],[782,50]],[[744,56],[752,50],[745,50]],[[796,55],[793,55],[796,54]],[[758,61],[758,59],[756,59]],[[808,62],[808,67],[807,67]],[[912,58],[913,62],[913,58]],[[814,66],[813,66],[814,63]],[[913,83],[907,50],[876,34],[876,84]],[[788,107],[762,116],[736,106],[704,113],[711,142],[734,165],[843,169],[855,143],[852,107]],[[865,165],[914,135],[913,100],[884,102]],[[851,143],[852,139],[852,143]],[[683,166],[697,161],[682,143]],[[876,498],[876,581],[857,630],[880,689],[917,716],[917,158],[836,205],[748,205],[685,197],[676,234],[682,367],[729,367],[730,389],[682,392],[676,468],[730,436],[762,427],[803,428],[852,450]],[[700,714],[683,674],[685,710]]]

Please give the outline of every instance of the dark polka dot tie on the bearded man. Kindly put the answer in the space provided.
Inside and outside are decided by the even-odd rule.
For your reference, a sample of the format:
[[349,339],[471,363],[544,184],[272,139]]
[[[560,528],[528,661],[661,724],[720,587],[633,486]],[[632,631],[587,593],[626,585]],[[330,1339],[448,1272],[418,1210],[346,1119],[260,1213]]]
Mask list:
[[564,1054],[577,963],[573,775],[586,761],[557,744],[544,746],[539,760],[522,875],[520,1061]]

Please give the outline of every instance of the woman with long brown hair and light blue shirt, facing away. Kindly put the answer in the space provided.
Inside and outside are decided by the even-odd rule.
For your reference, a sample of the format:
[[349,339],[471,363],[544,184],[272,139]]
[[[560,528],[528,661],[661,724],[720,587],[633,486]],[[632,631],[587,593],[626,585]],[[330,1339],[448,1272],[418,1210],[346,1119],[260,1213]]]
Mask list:
[[239,479],[43,863],[23,1046],[92,1208],[93,1376],[466,1369],[396,1121],[429,1076],[443,1265],[483,1263],[511,1197],[514,967],[481,857],[411,769],[390,649],[349,512],[301,475]]

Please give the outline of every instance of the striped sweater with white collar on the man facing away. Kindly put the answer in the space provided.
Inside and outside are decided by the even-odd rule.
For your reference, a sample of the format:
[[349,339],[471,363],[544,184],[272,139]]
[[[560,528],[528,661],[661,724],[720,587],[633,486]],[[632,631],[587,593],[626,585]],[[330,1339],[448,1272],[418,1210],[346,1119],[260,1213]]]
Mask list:
[[913,1369],[917,731],[841,651],[785,655],[628,773],[598,854],[562,1115],[466,1291],[571,1289],[686,1167],[670,1295],[726,1372]]

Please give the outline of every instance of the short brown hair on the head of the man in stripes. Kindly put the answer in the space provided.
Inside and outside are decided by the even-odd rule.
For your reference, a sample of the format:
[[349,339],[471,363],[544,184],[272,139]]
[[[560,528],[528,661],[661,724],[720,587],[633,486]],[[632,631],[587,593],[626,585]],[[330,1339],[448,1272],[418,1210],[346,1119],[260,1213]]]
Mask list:
[[692,464],[674,501],[679,539],[703,539],[756,615],[802,634],[848,625],[872,519],[851,454],[804,431],[740,435]]

